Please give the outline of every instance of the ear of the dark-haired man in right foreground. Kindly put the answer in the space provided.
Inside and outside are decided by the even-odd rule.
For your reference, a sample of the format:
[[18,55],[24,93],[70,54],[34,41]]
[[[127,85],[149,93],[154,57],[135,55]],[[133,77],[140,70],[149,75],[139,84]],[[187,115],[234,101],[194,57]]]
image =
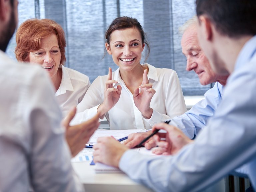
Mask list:
[[205,36],[205,38],[208,40],[208,41],[211,41],[212,40],[212,35],[213,35],[213,23],[211,22],[211,20],[204,16],[204,15],[200,15],[199,16],[199,25],[200,25],[200,28],[202,28],[202,34]]

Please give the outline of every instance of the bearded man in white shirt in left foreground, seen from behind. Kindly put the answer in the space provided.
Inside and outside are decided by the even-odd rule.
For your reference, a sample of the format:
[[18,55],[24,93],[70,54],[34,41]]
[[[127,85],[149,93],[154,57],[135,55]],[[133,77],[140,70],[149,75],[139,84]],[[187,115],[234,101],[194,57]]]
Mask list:
[[85,146],[99,126],[98,116],[69,126],[74,109],[61,125],[46,72],[4,53],[18,23],[17,7],[17,0],[0,0],[0,191],[84,191],[71,166],[71,152]]

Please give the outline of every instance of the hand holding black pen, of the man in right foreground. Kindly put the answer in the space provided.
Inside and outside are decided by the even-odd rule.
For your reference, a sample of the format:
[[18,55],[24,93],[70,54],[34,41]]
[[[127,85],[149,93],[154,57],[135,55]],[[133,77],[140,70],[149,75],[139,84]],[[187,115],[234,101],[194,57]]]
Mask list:
[[[155,143],[158,148],[153,150],[156,154],[172,155],[177,153],[185,145],[192,143],[193,140],[188,138],[179,128],[166,123],[158,123],[153,126],[152,131],[164,129],[167,133],[157,133],[154,135]],[[165,141],[162,140],[165,138]]]

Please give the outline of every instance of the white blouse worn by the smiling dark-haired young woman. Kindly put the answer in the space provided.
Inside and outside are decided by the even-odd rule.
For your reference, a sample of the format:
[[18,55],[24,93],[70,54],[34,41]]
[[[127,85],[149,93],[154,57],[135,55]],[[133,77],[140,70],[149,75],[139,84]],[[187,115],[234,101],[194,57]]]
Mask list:
[[[112,73],[112,78],[119,82],[114,84],[114,88],[121,85],[122,92],[115,106],[105,114],[110,129],[150,129],[155,123],[163,122],[186,111],[176,72],[172,69],[155,68],[149,64],[143,65],[149,68],[149,83],[152,83],[153,89],[156,90],[150,103],[150,107],[153,109],[152,117],[150,119],[143,118],[134,104],[133,94],[121,79],[120,69],[118,68]],[[77,105],[77,114],[72,123],[81,123],[97,113],[98,106],[104,100],[104,87],[107,77],[107,75],[99,76],[94,80],[83,100]]]

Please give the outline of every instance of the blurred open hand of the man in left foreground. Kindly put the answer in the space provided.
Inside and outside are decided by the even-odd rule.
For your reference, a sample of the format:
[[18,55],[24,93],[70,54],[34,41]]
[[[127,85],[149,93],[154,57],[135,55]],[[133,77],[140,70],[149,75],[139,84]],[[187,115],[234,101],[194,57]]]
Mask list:
[[66,128],[66,140],[73,157],[85,147],[89,138],[100,125],[99,115],[97,114],[88,121],[78,125],[69,126],[69,123],[74,118],[75,114],[76,108],[74,107],[62,121],[62,125]]

